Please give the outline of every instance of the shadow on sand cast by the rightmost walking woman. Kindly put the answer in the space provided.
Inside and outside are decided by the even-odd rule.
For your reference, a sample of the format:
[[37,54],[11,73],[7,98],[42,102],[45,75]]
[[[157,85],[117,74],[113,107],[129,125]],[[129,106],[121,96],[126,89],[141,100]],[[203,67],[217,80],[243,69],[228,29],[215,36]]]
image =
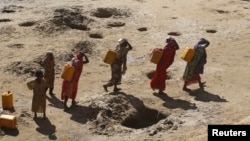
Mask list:
[[203,102],[228,102],[226,99],[220,97],[219,95],[215,95],[212,93],[209,93],[204,90],[204,88],[199,88],[196,90],[192,90],[189,92],[189,95],[194,96],[195,100],[197,101],[203,101]]

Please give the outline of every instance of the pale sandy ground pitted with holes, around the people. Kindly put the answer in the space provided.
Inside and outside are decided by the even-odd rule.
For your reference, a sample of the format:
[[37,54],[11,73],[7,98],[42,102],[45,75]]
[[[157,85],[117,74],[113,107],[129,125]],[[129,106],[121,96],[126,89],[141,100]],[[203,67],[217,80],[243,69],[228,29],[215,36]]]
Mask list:
[[[249,124],[249,0],[0,0],[0,90],[13,93],[16,129],[1,141],[202,141],[209,124]],[[180,45],[167,70],[165,95],[151,90],[150,53],[172,35]],[[102,61],[125,37],[133,46],[119,93],[103,90],[110,79]],[[199,38],[211,42],[202,80],[182,91],[186,62],[180,56]],[[60,72],[72,49],[86,49],[76,107],[63,110]],[[46,51],[56,61],[55,96],[46,120],[33,120],[27,81]],[[109,91],[112,89],[110,88]],[[0,102],[1,104],[1,102]],[[1,104],[2,105],[2,104]],[[41,114],[38,114],[41,117]]]

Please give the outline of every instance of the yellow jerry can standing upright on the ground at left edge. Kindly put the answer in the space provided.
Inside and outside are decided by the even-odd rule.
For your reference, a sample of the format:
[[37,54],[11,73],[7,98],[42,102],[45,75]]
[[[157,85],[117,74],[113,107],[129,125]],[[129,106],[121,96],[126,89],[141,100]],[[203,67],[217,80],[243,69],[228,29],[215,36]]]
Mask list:
[[2,93],[3,109],[13,108],[13,94],[10,91]]

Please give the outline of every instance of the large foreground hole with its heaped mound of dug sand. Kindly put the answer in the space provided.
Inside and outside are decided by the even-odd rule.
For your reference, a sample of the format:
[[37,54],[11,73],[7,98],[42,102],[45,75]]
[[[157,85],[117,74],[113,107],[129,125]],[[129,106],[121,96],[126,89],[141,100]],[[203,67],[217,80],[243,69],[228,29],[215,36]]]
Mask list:
[[167,115],[146,107],[133,95],[119,92],[115,95],[104,95],[89,101],[90,109],[97,114],[91,121],[95,134],[113,135],[128,133],[133,129],[154,126]]

